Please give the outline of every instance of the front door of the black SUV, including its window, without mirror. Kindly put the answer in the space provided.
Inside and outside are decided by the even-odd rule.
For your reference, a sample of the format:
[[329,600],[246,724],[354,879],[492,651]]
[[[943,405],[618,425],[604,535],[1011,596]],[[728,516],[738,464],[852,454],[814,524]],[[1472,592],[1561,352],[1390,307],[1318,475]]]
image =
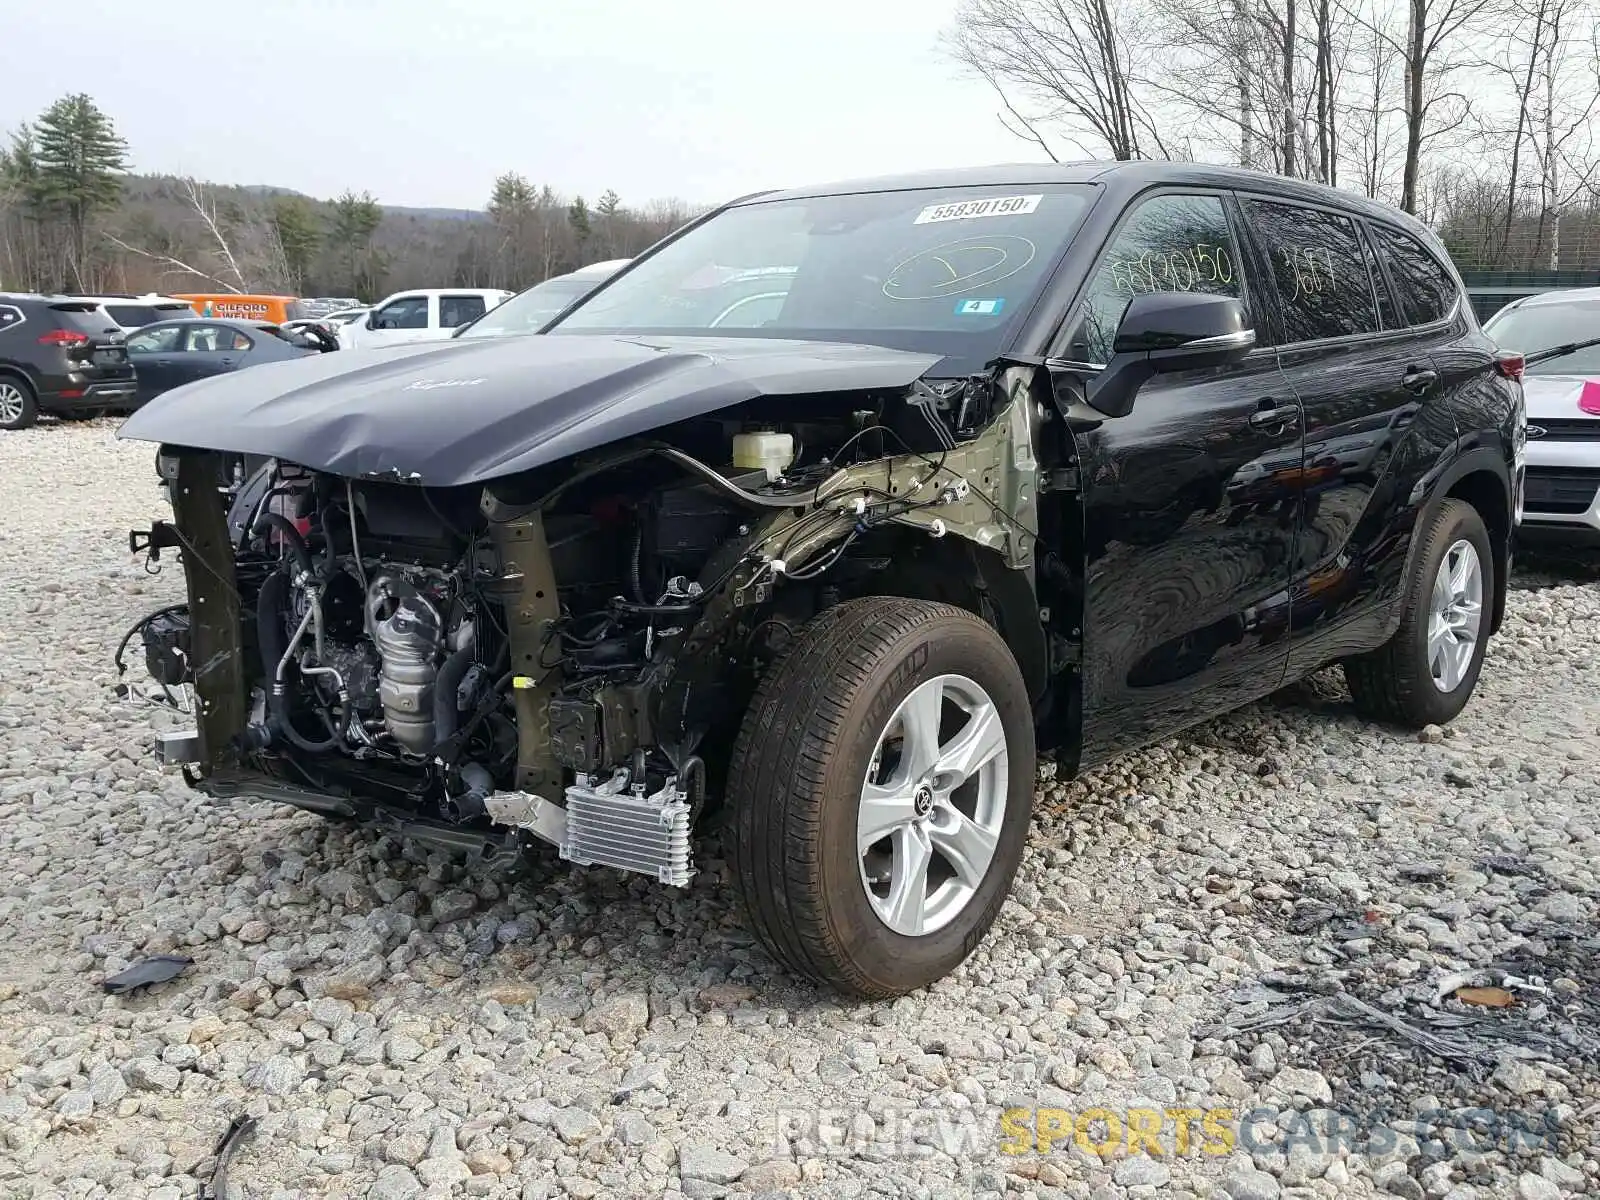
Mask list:
[[[1203,291],[1264,310],[1232,202],[1136,202],[1058,347],[1104,363],[1128,301]],[[1158,374],[1128,416],[1074,429],[1083,498],[1082,765],[1256,699],[1283,680],[1301,421],[1277,352]]]

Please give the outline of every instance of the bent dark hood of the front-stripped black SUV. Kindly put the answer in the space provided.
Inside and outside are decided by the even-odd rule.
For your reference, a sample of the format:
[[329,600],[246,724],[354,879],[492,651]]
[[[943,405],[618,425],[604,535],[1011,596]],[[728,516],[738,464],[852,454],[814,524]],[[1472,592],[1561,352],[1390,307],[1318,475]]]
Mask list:
[[762,395],[909,387],[938,355],[765,338],[526,334],[338,350],[174,387],[118,437],[458,486]]

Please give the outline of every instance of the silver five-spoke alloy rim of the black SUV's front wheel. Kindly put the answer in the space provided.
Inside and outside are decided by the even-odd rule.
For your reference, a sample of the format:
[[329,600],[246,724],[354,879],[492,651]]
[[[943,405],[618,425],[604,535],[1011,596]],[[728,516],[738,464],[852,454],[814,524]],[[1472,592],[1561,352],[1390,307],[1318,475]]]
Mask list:
[[1010,755],[994,701],[965,675],[917,686],[878,733],[861,789],[861,885],[890,930],[920,938],[971,902],[1005,826]]

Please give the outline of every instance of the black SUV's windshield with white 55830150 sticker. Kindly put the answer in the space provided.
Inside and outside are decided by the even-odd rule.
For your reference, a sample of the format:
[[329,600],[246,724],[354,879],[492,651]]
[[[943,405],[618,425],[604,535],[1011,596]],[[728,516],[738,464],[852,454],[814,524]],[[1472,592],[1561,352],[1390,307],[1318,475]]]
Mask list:
[[741,205],[642,259],[549,333],[814,338],[981,366],[1027,312],[1090,195],[942,187]]

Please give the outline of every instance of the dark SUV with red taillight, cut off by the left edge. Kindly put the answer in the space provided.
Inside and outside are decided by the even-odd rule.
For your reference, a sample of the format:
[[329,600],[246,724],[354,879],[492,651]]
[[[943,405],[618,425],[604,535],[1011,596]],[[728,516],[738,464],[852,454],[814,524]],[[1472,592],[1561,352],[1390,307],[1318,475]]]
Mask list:
[[122,330],[93,301],[0,293],[0,429],[133,403]]

